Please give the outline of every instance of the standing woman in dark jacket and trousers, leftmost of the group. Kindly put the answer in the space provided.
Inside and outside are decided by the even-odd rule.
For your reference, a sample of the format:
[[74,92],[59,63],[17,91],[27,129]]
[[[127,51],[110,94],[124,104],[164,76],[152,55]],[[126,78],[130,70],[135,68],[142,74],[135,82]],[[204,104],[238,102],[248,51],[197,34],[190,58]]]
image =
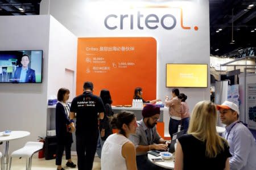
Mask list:
[[67,88],[60,88],[57,94],[56,104],[56,137],[57,137],[57,151],[56,151],[56,165],[57,169],[64,170],[61,167],[61,160],[63,151],[65,148],[65,155],[67,162],[67,167],[75,168],[71,160],[71,145],[73,143],[72,133],[69,132],[69,126],[71,122],[69,121],[69,105],[67,104],[69,98],[69,90]]

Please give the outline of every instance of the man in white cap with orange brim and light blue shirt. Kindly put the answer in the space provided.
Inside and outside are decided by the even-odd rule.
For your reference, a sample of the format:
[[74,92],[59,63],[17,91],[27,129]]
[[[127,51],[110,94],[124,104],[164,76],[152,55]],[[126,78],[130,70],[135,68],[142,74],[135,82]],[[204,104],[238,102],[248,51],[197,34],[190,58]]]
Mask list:
[[217,105],[220,111],[220,120],[226,125],[223,137],[228,140],[230,169],[255,170],[256,169],[256,142],[250,130],[243,125],[239,118],[239,108],[231,101],[224,101]]

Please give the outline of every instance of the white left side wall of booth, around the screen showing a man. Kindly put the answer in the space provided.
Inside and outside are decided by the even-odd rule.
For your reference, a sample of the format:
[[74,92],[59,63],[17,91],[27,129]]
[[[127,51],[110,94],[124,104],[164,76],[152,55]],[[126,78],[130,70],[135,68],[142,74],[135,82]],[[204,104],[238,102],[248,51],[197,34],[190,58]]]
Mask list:
[[46,136],[48,95],[63,86],[66,68],[75,70],[77,37],[49,15],[0,16],[0,25],[0,50],[43,50],[42,83],[0,83],[0,131],[31,133],[11,141],[11,152]]

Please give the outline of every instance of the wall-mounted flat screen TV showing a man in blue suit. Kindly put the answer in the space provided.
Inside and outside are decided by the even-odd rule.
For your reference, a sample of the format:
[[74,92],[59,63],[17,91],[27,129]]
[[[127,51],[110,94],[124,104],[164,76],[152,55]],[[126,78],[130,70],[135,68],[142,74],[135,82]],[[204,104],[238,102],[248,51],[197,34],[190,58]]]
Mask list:
[[0,83],[42,83],[43,50],[0,51]]

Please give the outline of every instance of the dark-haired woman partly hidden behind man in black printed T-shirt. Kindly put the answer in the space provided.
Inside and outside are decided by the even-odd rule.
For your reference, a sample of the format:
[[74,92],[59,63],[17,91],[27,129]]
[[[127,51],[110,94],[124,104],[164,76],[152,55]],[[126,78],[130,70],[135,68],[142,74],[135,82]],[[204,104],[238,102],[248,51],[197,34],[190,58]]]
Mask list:
[[[113,118],[114,112],[112,111],[112,99],[110,96],[110,92],[108,90],[101,90],[100,97],[104,103],[105,107],[105,116],[104,116],[104,123],[100,125],[100,137],[98,138],[98,145],[97,145],[97,154],[101,158],[101,149],[106,141],[106,138],[112,134],[112,127],[110,126],[110,121]],[[104,126],[105,128],[102,128]]]

